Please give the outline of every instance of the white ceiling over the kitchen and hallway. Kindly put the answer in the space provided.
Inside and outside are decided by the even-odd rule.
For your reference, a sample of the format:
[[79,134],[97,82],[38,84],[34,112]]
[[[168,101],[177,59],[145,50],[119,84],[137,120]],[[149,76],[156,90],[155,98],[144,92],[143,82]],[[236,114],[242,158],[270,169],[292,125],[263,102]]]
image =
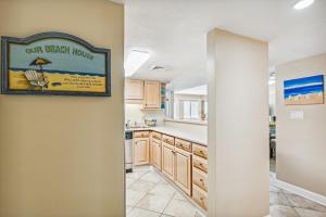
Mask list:
[[[116,0],[121,1],[121,0]],[[188,88],[206,84],[206,34],[218,27],[269,42],[269,66],[326,52],[326,0],[124,0],[125,58],[151,53],[135,78]],[[151,71],[153,65],[166,69]]]

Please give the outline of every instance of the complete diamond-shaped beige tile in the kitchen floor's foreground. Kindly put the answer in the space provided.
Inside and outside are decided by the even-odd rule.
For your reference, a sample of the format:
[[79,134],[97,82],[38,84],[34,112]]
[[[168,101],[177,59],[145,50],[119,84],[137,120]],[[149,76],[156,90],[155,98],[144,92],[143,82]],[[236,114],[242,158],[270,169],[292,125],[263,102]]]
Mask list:
[[171,199],[168,196],[147,194],[139,201],[136,207],[163,213]]

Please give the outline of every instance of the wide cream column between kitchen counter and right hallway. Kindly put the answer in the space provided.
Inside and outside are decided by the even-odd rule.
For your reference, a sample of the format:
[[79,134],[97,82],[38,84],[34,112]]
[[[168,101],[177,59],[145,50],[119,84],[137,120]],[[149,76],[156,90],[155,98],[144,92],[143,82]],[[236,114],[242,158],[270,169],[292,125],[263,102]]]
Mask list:
[[268,215],[268,46],[208,35],[209,216]]

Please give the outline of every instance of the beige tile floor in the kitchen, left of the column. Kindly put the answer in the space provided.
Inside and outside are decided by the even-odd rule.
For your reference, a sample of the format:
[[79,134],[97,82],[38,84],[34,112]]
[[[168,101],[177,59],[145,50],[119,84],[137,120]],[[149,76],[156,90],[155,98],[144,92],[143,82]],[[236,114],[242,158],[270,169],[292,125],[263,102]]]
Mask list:
[[126,174],[126,188],[127,217],[203,217],[151,166]]

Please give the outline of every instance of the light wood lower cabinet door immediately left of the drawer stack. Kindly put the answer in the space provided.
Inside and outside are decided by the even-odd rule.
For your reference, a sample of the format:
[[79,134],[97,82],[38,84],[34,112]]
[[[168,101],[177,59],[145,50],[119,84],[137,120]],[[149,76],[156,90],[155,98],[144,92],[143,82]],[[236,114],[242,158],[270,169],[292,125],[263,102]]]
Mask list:
[[175,150],[175,183],[191,195],[191,154],[178,148]]

